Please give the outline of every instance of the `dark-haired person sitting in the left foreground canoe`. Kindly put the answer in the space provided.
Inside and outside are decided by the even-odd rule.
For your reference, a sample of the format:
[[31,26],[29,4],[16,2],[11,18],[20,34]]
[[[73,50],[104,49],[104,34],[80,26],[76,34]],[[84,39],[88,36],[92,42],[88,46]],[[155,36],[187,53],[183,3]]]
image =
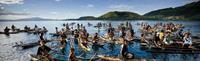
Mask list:
[[40,40],[39,41],[39,48],[37,51],[37,55],[38,56],[45,56],[45,57],[49,57],[49,51],[51,50],[51,48],[49,48],[48,46],[45,45],[45,41],[44,40]]

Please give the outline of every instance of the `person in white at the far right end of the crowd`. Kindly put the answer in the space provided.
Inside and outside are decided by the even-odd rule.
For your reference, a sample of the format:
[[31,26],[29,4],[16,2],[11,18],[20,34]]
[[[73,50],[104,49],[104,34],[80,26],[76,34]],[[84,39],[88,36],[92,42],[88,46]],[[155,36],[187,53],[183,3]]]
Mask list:
[[189,32],[186,32],[183,37],[183,47],[185,46],[188,48],[192,47],[192,38]]

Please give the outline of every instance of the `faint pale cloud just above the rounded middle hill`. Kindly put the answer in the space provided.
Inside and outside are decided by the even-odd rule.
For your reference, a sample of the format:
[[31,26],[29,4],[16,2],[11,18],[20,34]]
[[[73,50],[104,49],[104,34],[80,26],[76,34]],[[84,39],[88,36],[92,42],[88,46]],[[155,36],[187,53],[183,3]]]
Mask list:
[[110,5],[109,10],[116,10],[116,11],[130,11],[134,7],[130,5],[124,5],[124,4],[119,4],[119,5]]

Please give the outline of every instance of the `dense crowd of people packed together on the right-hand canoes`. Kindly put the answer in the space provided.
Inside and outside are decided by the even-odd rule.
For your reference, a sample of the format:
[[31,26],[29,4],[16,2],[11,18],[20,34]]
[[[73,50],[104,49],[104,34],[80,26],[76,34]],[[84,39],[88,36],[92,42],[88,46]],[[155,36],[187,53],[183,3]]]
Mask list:
[[155,44],[157,47],[165,47],[171,44],[181,44],[180,47],[192,47],[191,31],[183,31],[182,24],[156,23],[153,26],[147,23],[140,24],[141,41],[147,44]]

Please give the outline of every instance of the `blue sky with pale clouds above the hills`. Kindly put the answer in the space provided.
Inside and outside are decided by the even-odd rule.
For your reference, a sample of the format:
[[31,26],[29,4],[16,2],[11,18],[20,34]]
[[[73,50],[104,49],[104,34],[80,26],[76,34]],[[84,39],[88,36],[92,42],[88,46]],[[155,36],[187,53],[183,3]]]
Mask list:
[[0,0],[0,19],[74,19],[81,16],[98,17],[110,11],[130,11],[143,15],[194,1],[198,0]]

